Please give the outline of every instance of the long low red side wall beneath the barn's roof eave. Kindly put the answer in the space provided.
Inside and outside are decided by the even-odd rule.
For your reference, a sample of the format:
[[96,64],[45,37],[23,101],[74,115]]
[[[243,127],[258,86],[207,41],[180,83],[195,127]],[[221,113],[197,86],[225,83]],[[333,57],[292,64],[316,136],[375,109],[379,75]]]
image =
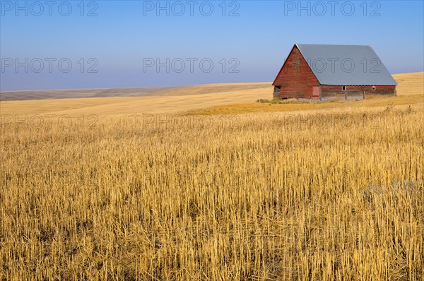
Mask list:
[[325,97],[363,97],[365,91],[365,98],[369,95],[396,95],[396,86],[376,85],[375,90],[372,85],[351,85],[346,86],[346,90],[342,90],[341,85],[322,85],[321,96]]

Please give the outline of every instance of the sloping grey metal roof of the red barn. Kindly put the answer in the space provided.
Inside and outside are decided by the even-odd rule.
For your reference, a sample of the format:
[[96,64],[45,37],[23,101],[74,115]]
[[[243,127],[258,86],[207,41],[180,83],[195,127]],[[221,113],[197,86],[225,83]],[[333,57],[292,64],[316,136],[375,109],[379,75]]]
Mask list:
[[396,85],[371,46],[295,45],[322,85]]

